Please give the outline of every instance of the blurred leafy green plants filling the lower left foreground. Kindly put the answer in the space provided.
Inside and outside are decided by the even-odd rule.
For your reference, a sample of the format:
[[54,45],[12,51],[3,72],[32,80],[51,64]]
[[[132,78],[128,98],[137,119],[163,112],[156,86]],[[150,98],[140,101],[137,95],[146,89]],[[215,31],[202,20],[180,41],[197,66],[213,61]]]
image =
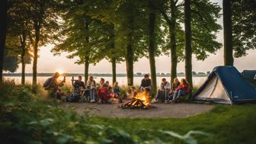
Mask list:
[[[33,94],[30,85],[21,86],[15,85],[14,82],[5,82],[0,87],[0,95],[2,143],[179,142],[194,144],[197,140],[191,134],[196,136],[204,134],[190,131],[180,136],[178,133],[161,129],[155,133],[155,130],[146,131],[139,126],[131,126],[133,133],[127,132],[120,128],[120,125],[104,124],[98,121],[100,119],[88,117],[87,114],[78,115],[56,107],[54,101]],[[152,135],[153,133],[155,135]],[[165,139],[160,138],[163,135]]]

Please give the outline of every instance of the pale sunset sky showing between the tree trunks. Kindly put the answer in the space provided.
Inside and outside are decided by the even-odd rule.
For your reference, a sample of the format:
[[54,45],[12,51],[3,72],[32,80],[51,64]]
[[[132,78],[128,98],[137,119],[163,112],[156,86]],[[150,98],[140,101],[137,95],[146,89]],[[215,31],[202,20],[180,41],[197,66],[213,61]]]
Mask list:
[[[222,0],[212,0],[212,2],[218,2],[222,7]],[[222,11],[221,11],[222,12]],[[219,18],[218,23],[222,25],[222,18]],[[217,40],[223,42],[223,31],[220,30],[217,35]],[[76,59],[67,59],[68,53],[62,53],[61,56],[53,56],[50,50],[53,45],[47,45],[40,47],[39,59],[37,63],[37,72],[66,72],[66,73],[83,73],[84,66],[78,66],[75,64]],[[222,66],[223,61],[223,49],[218,50],[216,54],[210,53],[210,56],[204,61],[197,61],[195,57],[192,58],[192,67],[195,72],[207,72],[211,71],[215,66]],[[171,57],[170,56],[158,56],[155,58],[156,72],[171,72]],[[244,69],[256,69],[256,50],[249,50],[248,55],[242,58],[235,59],[234,66],[242,71]],[[149,59],[142,58],[138,62],[134,63],[134,72],[149,73]],[[18,71],[21,72],[21,66]],[[26,72],[32,72],[32,65],[26,66]],[[178,63],[178,72],[184,72],[184,62]],[[111,73],[111,64],[107,60],[98,62],[96,66],[89,66],[89,73]],[[125,62],[117,64],[117,73],[126,73]]]

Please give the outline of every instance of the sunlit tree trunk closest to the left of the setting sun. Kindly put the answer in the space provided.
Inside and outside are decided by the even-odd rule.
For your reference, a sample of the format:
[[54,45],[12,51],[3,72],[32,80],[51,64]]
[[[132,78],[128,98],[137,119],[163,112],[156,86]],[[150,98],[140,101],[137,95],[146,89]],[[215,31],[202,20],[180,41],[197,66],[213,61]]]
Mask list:
[[33,58],[33,80],[32,80],[32,86],[33,88],[37,87],[37,52],[38,52],[38,43],[40,40],[40,27],[35,25],[35,42],[34,42],[34,58]]

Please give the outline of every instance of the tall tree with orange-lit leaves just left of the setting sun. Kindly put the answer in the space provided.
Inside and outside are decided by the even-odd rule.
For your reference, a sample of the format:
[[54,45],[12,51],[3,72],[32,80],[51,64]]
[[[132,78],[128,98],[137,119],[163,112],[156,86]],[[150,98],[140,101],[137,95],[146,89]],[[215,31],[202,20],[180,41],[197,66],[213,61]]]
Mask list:
[[33,23],[34,33],[30,35],[33,41],[34,59],[33,59],[33,78],[32,85],[37,86],[37,59],[39,46],[43,46],[54,40],[56,32],[59,30],[57,11],[59,3],[54,0],[30,0],[27,1],[31,21]]

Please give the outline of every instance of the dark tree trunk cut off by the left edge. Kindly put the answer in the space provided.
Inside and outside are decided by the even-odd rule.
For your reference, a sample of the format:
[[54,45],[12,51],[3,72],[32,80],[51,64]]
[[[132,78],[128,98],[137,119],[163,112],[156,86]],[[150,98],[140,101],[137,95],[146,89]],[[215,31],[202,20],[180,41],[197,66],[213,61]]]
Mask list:
[[3,66],[4,66],[4,56],[5,56],[5,39],[6,39],[6,29],[7,29],[7,0],[0,1],[0,85],[3,82]]

